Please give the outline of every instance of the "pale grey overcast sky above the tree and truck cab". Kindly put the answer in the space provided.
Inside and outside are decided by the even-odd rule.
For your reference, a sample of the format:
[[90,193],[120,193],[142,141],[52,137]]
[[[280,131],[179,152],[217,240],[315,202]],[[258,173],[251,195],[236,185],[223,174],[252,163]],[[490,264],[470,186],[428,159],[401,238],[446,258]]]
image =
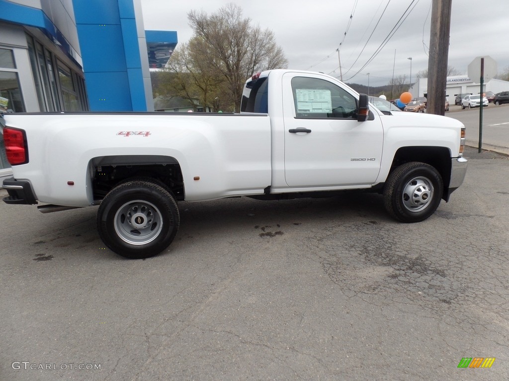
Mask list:
[[[290,69],[339,77],[336,49],[342,41],[345,82],[367,84],[370,73],[370,86],[385,85],[392,78],[393,69],[395,77],[406,75],[408,80],[410,63],[415,81],[415,74],[428,68],[431,0],[414,0],[408,17],[364,68],[398,20],[408,14],[405,10],[412,0],[142,0],[145,29],[176,30],[179,43],[187,42],[193,34],[187,21],[189,11],[211,14],[228,3],[240,6],[244,17],[253,24],[274,32]],[[448,65],[466,74],[475,57],[490,56],[497,62],[498,72],[508,67],[508,14],[509,0],[453,0]]]

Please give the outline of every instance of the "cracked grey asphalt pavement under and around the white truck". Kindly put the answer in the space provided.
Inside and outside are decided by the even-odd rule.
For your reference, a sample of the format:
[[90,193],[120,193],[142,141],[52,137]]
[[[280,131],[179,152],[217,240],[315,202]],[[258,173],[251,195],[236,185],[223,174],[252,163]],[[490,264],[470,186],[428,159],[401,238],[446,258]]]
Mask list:
[[143,261],[104,248],[96,208],[1,203],[0,380],[508,379],[509,158],[466,157],[419,224],[375,194],[180,203]]

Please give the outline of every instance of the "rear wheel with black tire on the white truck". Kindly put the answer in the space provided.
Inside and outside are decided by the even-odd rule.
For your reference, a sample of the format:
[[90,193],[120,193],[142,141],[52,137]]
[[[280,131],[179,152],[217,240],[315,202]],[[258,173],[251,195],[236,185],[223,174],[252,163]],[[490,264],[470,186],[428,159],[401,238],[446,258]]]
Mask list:
[[157,255],[172,243],[180,215],[172,194],[149,181],[127,181],[111,189],[97,211],[104,244],[130,259]]

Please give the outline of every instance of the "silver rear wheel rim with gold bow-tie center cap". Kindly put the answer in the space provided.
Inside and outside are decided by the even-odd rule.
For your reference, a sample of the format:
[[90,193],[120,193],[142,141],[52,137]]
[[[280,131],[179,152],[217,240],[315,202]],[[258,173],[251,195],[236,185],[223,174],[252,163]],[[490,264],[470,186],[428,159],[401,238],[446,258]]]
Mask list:
[[144,200],[129,201],[115,213],[117,235],[131,245],[145,245],[162,231],[162,215],[157,207]]

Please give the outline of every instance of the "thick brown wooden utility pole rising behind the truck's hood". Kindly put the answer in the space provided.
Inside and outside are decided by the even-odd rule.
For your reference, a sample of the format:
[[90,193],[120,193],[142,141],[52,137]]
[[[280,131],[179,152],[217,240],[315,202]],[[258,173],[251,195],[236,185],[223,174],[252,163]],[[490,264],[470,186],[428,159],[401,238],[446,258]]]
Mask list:
[[445,86],[453,0],[432,0],[427,112],[445,115]]

